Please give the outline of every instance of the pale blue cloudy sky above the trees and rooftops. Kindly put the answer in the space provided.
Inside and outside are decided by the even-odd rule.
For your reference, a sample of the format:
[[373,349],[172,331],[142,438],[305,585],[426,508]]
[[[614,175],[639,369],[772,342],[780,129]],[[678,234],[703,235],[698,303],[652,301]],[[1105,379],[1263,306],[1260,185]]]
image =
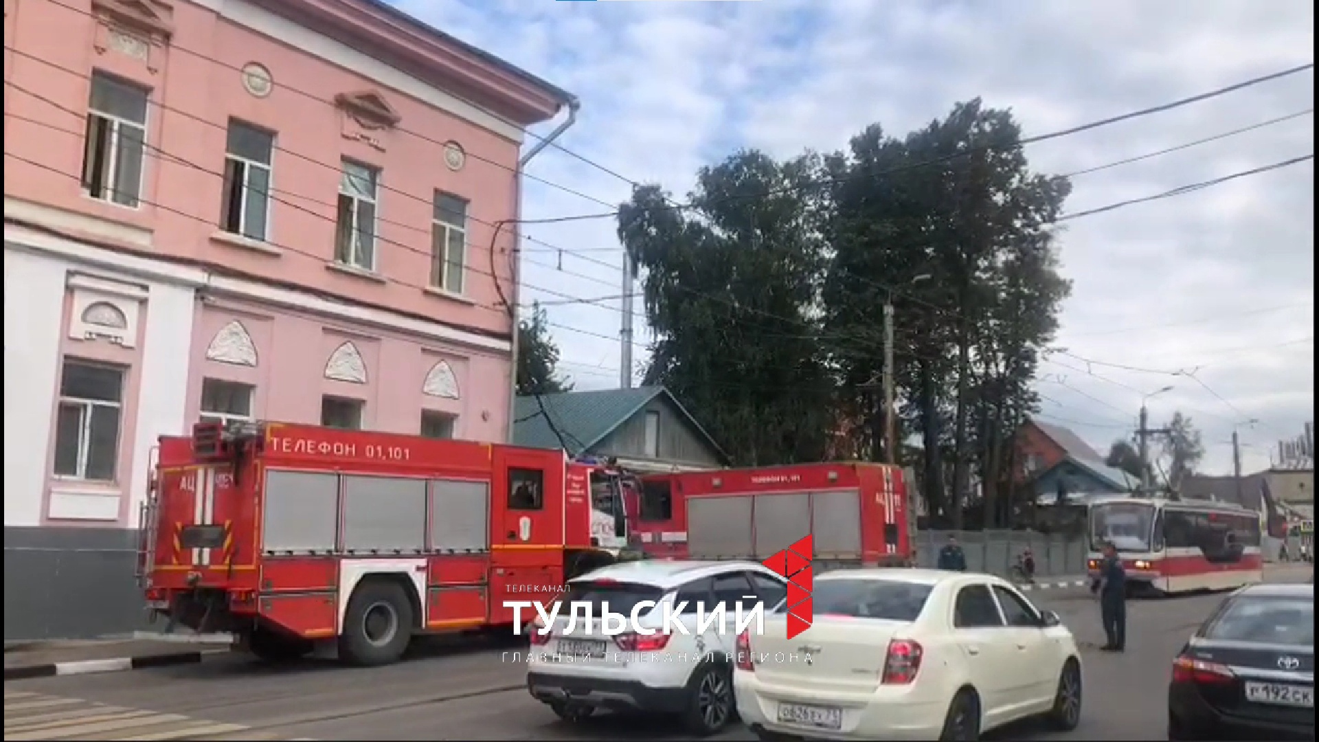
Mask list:
[[[905,132],[976,95],[1043,133],[1307,63],[1314,49],[1303,0],[396,3],[579,95],[561,141],[600,166],[550,149],[530,173],[609,205],[630,182],[682,195],[696,168],[739,147],[834,151],[869,123]],[[1314,84],[1307,71],[1028,153],[1039,170],[1074,173],[1290,116],[1078,176],[1068,207],[1151,195],[1311,154]],[[524,215],[607,210],[530,182]],[[525,280],[554,292],[525,296],[551,305],[578,388],[617,386],[619,302],[559,294],[620,293],[613,228],[525,228],[539,240],[524,246]],[[1066,353],[1039,383],[1046,419],[1103,450],[1130,436],[1142,395],[1171,386],[1149,400],[1151,419],[1192,416],[1204,467],[1224,473],[1235,422],[1258,420],[1240,426],[1249,471],[1314,420],[1312,162],[1076,219],[1062,250],[1075,288]]]

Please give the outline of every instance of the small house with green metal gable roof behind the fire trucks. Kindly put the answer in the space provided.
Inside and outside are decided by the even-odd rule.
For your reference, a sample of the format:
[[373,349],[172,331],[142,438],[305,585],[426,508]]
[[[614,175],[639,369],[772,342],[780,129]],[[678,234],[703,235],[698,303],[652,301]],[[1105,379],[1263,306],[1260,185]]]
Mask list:
[[728,465],[728,454],[663,387],[520,396],[513,445],[617,458],[638,471]]

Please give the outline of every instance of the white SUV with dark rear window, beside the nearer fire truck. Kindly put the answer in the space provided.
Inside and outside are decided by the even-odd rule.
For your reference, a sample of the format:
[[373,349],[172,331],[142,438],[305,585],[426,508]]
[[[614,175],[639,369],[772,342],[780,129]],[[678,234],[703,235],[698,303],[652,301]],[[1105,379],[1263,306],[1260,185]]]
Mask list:
[[[733,721],[732,691],[737,606],[769,614],[787,594],[786,582],[756,562],[633,561],[596,569],[568,581],[563,614],[547,634],[539,619],[532,639],[526,688],[554,713],[578,721],[596,709],[644,710],[681,716],[690,731],[708,735]],[[605,636],[600,611],[630,615],[642,601],[657,605],[638,615],[654,634]],[[665,605],[687,606],[677,621],[687,628],[663,631]],[[568,628],[567,605],[590,603],[590,628],[578,619]],[[723,603],[723,626],[696,631],[698,606],[706,615]]]

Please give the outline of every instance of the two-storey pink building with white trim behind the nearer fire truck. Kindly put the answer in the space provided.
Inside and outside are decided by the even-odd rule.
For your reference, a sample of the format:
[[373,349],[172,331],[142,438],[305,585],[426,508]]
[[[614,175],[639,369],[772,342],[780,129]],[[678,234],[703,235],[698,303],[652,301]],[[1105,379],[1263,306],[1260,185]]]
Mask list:
[[495,224],[571,95],[376,0],[4,8],[7,639],[123,630],[199,419],[506,440]]

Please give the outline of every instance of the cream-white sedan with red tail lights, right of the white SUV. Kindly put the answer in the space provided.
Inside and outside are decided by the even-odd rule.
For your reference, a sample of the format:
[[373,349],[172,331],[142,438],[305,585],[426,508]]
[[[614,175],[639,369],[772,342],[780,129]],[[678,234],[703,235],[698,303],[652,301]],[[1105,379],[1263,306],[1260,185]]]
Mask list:
[[840,570],[814,622],[737,638],[737,713],[761,739],[979,739],[1020,718],[1080,721],[1080,652],[1058,614],[989,574]]

